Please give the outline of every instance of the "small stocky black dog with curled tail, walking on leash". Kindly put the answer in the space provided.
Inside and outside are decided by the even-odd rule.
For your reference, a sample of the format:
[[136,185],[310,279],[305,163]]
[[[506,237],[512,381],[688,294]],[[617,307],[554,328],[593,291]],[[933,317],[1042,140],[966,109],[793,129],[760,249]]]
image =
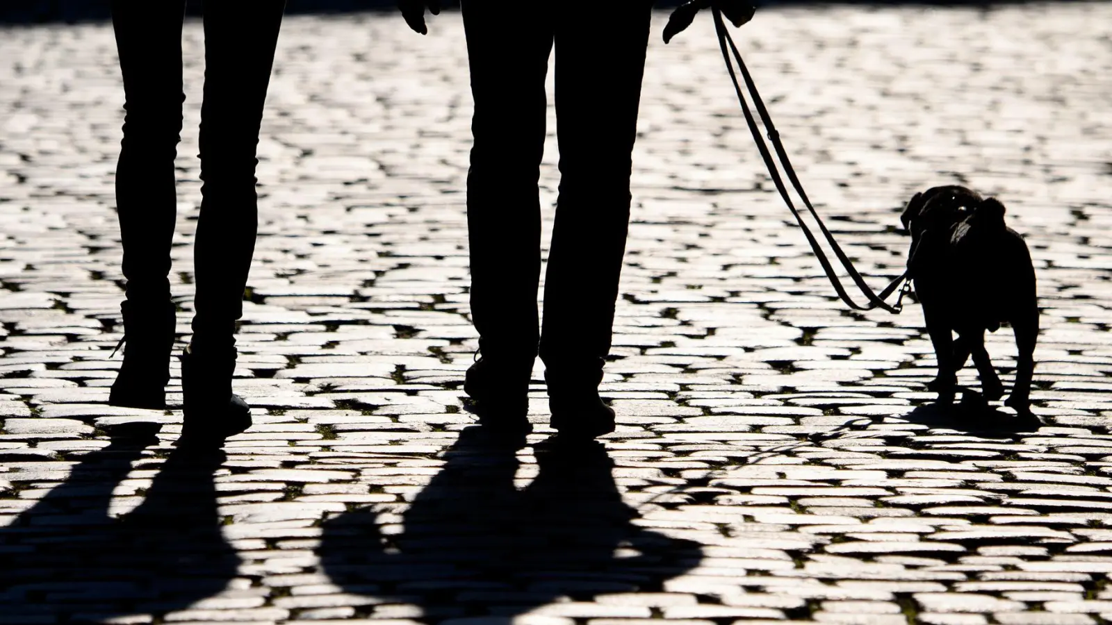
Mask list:
[[1019,357],[1005,404],[1029,411],[1039,336],[1035,271],[1023,237],[1004,225],[1004,205],[965,187],[934,187],[915,194],[900,219],[912,236],[907,277],[939,359],[927,389],[942,403],[953,401],[957,371],[972,354],[984,398],[1000,399],[1004,388],[984,349],[984,331],[1010,324]]

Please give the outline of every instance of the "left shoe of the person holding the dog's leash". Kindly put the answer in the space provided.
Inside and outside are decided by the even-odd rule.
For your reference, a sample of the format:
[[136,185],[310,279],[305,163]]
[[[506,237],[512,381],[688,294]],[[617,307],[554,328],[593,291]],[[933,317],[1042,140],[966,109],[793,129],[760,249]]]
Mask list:
[[505,363],[479,358],[464,378],[464,391],[470,397],[468,409],[479,417],[479,425],[490,430],[528,434],[529,377],[533,364]]

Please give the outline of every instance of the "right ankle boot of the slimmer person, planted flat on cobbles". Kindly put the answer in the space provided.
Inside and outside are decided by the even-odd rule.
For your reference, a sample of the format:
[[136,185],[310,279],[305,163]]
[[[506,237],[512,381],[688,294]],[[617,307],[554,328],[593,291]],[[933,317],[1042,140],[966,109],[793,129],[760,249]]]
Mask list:
[[178,446],[219,446],[251,427],[251,408],[231,391],[236,348],[181,351],[181,393],[185,420]]

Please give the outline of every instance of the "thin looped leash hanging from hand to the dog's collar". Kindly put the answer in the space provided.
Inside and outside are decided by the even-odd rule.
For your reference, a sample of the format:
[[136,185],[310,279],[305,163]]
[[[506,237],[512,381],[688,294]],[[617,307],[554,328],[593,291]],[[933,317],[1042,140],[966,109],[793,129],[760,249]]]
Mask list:
[[[807,199],[807,194],[803,190],[803,185],[800,183],[798,177],[795,175],[795,169],[792,167],[792,162],[787,158],[787,152],[784,151],[784,145],[780,140],[780,132],[776,131],[776,127],[772,123],[772,118],[768,117],[768,110],[764,106],[764,101],[761,99],[761,95],[757,93],[757,87],[753,82],[753,77],[749,76],[749,70],[745,67],[745,61],[742,60],[741,52],[737,51],[737,46],[734,44],[734,39],[729,37],[729,31],[726,30],[726,24],[722,21],[722,12],[717,8],[712,8],[714,13],[714,29],[718,34],[718,47],[722,48],[722,58],[726,61],[726,70],[729,72],[729,79],[734,83],[734,91],[737,92],[737,100],[742,105],[742,112],[745,113],[745,122],[749,126],[749,131],[753,133],[753,140],[757,145],[757,149],[761,151],[761,157],[765,161],[765,167],[768,169],[768,175],[772,177],[773,182],[776,185],[776,190],[780,191],[782,198],[784,198],[784,204],[787,205],[788,210],[795,217],[796,222],[800,228],[803,229],[803,235],[807,238],[807,242],[811,244],[811,249],[815,252],[815,257],[818,258],[820,265],[823,266],[823,270],[826,272],[826,277],[830,279],[831,285],[834,286],[834,290],[837,292],[838,298],[842,299],[850,308],[854,310],[872,310],[874,308],[883,308],[893,315],[898,315],[903,309],[903,298],[911,290],[911,280],[907,279],[907,272],[904,271],[898,278],[892,280],[888,286],[884,287],[884,290],[877,295],[870,288],[865,279],[861,277],[861,274],[853,267],[853,262],[850,261],[845,252],[842,251],[842,247],[837,245],[834,240],[834,236],[831,235],[826,225],[823,224],[822,218],[815,211],[815,208],[811,205],[811,200]],[[733,53],[733,60],[731,59],[731,52]],[[850,275],[850,278],[861,290],[862,295],[868,300],[866,305],[860,305],[850,298],[850,294],[846,292],[845,287],[842,286],[842,280],[834,272],[834,267],[832,266],[826,254],[823,251],[822,247],[818,245],[818,240],[812,234],[811,229],[803,221],[803,216],[792,204],[792,198],[787,194],[787,189],[784,186],[784,181],[780,175],[780,168],[776,167],[776,162],[773,160],[772,155],[768,151],[768,146],[765,143],[764,137],[761,135],[761,129],[757,127],[756,120],[753,118],[753,113],[749,111],[749,106],[745,100],[745,93],[742,92],[741,83],[737,81],[737,73],[734,71],[734,62],[737,63],[737,68],[742,72],[742,78],[745,80],[745,87],[753,98],[753,103],[757,109],[757,115],[761,116],[761,122],[764,125],[765,129],[768,131],[768,140],[772,141],[773,148],[776,150],[776,157],[780,159],[781,163],[784,166],[784,173],[787,179],[791,180],[792,186],[795,191],[803,199],[803,204],[807,207],[812,217],[818,224],[818,229],[822,231],[823,237],[826,242],[830,244],[831,249],[834,250],[834,255],[837,257],[842,267]],[[895,304],[887,304],[884,300],[887,299],[893,291],[900,288],[903,284],[903,288],[900,289],[900,295],[896,297]]]

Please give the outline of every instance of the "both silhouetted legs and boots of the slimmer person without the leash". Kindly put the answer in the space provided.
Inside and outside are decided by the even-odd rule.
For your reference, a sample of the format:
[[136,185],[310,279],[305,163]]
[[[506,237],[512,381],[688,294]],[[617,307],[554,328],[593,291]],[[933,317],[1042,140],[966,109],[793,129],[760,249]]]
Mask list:
[[[113,24],[120,48],[127,121],[118,189],[128,301],[125,376],[113,404],[140,405],[116,396],[165,405],[173,315],[169,307],[170,239],[173,236],[173,157],[181,129],[181,21],[183,4],[116,0]],[[249,408],[231,394],[236,363],[235,324],[242,315],[257,228],[255,157],[262,105],[274,62],[284,0],[205,6],[205,100],[201,108],[201,211],[195,255],[193,338],[182,356],[183,438],[222,439],[250,425]],[[136,302],[153,302],[137,306]],[[162,308],[156,310],[156,306]],[[166,311],[169,315],[166,315]],[[129,315],[130,312],[130,315]],[[163,328],[159,348],[142,330]],[[157,324],[156,324],[157,321]],[[163,333],[165,334],[165,333]],[[163,345],[165,344],[165,345]],[[131,365],[129,367],[129,365]],[[127,387],[127,388],[123,388]],[[126,393],[125,393],[126,390]]]

